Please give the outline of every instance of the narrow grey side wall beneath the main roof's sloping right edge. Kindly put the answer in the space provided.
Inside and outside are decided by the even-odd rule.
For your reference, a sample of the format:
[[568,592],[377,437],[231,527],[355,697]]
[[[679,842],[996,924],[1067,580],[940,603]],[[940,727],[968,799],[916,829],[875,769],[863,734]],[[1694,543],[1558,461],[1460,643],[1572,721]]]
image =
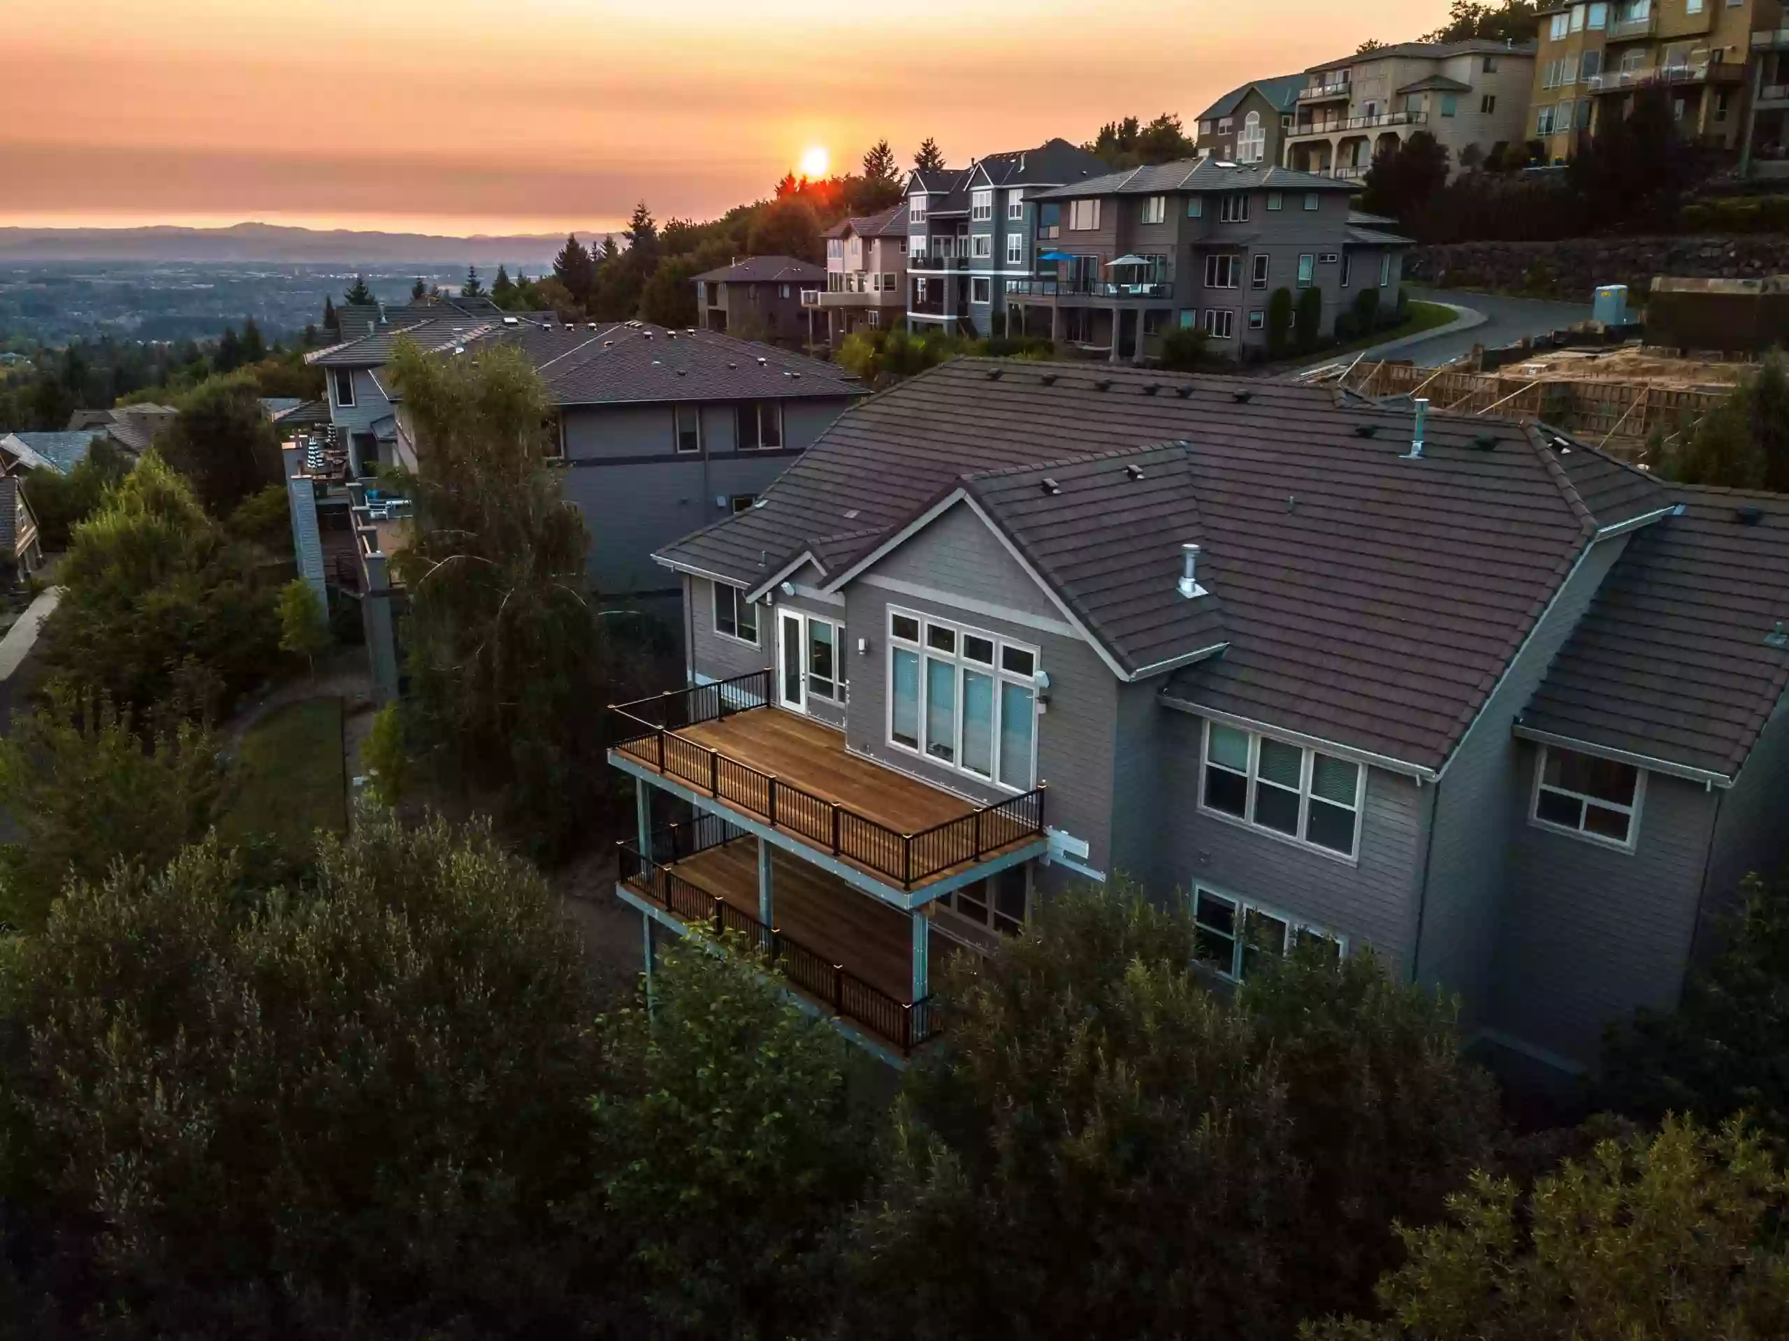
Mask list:
[[1463,992],[1467,1028],[1483,1023],[1478,1016],[1505,915],[1505,846],[1528,801],[1513,781],[1519,744],[1510,726],[1626,544],[1626,536],[1612,536],[1585,552],[1437,785],[1415,971],[1424,983]]

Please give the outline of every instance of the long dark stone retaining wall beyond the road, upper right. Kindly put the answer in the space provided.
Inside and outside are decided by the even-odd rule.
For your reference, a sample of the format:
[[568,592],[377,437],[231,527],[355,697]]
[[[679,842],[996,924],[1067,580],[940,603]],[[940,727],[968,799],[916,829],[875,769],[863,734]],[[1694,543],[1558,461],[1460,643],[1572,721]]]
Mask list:
[[1789,236],[1569,238],[1412,247],[1404,279],[1419,284],[1531,293],[1589,302],[1598,284],[1626,284],[1639,300],[1653,275],[1760,279],[1789,274]]

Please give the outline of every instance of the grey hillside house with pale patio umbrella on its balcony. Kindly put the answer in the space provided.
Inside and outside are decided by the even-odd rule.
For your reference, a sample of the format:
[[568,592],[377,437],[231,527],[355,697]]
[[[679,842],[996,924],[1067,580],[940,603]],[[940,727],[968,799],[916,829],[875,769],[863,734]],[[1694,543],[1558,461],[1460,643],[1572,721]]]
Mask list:
[[1363,288],[1395,302],[1408,240],[1349,222],[1349,182],[1186,159],[1032,197],[1038,277],[1005,284],[1009,327],[1113,363],[1199,325],[1238,352],[1268,340],[1274,290],[1315,288],[1322,329]]

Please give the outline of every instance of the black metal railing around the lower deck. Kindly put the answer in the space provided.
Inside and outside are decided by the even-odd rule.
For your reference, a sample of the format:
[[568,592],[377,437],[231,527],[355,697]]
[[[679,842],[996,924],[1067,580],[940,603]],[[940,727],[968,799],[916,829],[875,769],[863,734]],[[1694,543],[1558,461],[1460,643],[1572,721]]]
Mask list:
[[[723,842],[735,842],[746,837],[744,831],[710,815],[716,824],[673,824],[671,830],[653,833],[653,851],[671,853],[673,862],[694,856]],[[728,835],[728,830],[732,833]],[[642,894],[691,930],[703,932],[716,940],[728,932],[737,932],[764,955],[766,962],[789,983],[809,998],[828,1007],[834,1014],[862,1025],[878,1039],[900,1048],[902,1055],[911,1053],[937,1030],[932,1023],[932,998],[920,1001],[900,1001],[880,987],[834,964],[827,955],[784,935],[775,926],[766,926],[750,912],[733,907],[719,894],[710,894],[699,885],[692,885],[680,876],[671,862],[646,860],[630,844],[619,844],[621,881]]]

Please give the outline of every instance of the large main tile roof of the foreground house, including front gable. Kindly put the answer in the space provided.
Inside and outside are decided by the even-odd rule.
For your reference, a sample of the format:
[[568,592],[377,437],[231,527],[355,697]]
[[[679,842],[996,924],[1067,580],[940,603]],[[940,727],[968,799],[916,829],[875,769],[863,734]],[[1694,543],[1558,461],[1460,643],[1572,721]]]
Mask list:
[[[1218,640],[1161,594],[1197,542],[1229,647],[1174,694],[1438,769],[1603,522],[1539,431],[1431,415],[1422,461],[1401,460],[1408,436],[1408,413],[1326,388],[959,359],[846,411],[762,508],[660,558],[755,586],[812,551],[835,578],[962,486],[1136,670]],[[1084,460],[1140,449],[1159,452],[1141,481]],[[1041,474],[1063,492],[1034,515]]]

